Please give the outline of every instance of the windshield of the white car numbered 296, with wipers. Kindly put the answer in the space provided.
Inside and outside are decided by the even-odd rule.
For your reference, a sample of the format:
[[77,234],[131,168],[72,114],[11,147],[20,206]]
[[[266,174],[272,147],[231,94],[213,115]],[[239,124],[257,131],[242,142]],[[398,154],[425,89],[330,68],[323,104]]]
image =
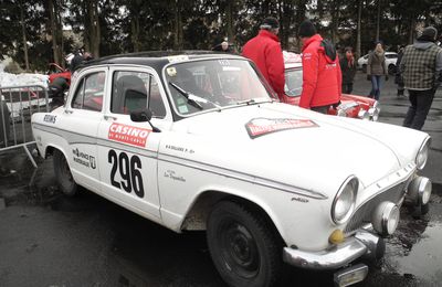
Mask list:
[[166,68],[175,109],[181,115],[272,100],[245,60],[204,60]]

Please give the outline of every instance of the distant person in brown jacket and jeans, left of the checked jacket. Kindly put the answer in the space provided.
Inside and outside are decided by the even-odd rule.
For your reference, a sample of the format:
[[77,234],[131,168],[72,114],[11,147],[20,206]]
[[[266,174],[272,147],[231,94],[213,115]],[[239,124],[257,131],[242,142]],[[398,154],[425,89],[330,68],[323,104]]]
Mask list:
[[376,100],[379,100],[382,76],[388,81],[386,52],[383,51],[382,42],[378,41],[376,42],[375,51],[368,56],[367,63],[367,79],[371,81],[370,97],[375,97]]

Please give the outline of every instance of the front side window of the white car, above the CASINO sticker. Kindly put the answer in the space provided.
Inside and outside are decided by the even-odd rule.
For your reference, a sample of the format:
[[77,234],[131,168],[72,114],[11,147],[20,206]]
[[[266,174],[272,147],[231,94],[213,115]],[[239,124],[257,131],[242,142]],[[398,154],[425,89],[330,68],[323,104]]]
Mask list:
[[155,77],[141,72],[115,72],[110,111],[128,115],[143,107],[149,107],[154,117],[166,116],[165,104]]

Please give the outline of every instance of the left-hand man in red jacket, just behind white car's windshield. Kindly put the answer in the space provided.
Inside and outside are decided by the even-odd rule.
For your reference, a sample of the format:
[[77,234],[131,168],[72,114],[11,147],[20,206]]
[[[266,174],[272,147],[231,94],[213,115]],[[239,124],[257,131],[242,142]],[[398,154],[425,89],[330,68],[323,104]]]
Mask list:
[[284,95],[284,59],[277,33],[277,19],[269,17],[260,26],[260,33],[245,43],[242,55],[252,60],[282,100]]

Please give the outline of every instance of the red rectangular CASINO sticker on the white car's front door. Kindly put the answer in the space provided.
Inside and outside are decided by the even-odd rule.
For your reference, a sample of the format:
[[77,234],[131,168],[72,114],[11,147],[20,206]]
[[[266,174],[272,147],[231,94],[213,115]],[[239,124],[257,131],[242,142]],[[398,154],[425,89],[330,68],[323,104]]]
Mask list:
[[127,126],[123,124],[112,124],[109,128],[108,139],[138,146],[146,147],[147,137],[150,129]]

